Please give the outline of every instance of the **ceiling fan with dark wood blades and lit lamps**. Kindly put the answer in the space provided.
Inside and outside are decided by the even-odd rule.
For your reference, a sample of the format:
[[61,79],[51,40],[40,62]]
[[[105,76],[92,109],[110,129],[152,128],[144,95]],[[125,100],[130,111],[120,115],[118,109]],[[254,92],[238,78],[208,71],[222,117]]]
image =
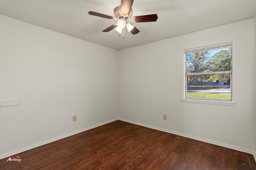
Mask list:
[[117,32],[122,33],[122,30],[124,30],[124,28],[126,27],[128,32],[131,32],[132,34],[138,34],[140,31],[129,22],[154,22],[157,20],[158,16],[156,14],[151,14],[151,15],[143,15],[143,16],[134,16],[133,18],[131,18],[132,4],[133,4],[133,0],[121,0],[121,6],[118,6],[114,9],[115,17],[100,14],[98,12],[93,12],[93,11],[90,11],[88,13],[90,15],[99,16],[102,18],[118,20],[117,24],[113,24],[112,26],[103,30],[103,32],[109,32],[115,29]]

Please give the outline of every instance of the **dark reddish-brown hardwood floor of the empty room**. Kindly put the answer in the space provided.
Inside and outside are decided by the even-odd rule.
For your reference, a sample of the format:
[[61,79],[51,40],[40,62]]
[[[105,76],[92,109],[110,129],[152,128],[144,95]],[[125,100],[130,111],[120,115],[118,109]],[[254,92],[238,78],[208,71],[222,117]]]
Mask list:
[[[16,155],[14,155],[16,156]],[[0,160],[1,170],[238,170],[254,169],[251,154],[115,121]],[[240,166],[242,167],[242,166]]]

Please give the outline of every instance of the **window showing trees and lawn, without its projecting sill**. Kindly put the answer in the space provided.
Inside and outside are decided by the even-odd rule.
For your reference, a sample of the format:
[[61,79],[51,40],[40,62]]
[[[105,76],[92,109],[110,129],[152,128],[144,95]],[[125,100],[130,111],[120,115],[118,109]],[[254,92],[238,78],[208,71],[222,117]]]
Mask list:
[[185,49],[186,99],[232,101],[232,42]]

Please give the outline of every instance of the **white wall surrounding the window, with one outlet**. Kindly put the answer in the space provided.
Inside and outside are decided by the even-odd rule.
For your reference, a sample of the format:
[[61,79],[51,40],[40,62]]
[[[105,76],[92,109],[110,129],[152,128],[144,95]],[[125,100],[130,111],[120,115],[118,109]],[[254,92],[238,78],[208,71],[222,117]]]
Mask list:
[[[119,118],[252,153],[254,31],[254,19],[249,19],[118,51]],[[225,42],[233,42],[236,106],[182,103],[184,49]]]

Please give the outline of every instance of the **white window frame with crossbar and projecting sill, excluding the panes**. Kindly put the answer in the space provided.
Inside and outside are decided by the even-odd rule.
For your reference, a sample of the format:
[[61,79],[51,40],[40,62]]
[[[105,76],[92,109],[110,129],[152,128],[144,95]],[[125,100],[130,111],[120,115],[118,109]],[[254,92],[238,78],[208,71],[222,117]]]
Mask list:
[[[200,73],[187,73],[187,54],[188,53],[196,53],[196,52],[202,52],[202,51],[211,51],[214,49],[222,49],[222,48],[227,48],[231,47],[230,51],[230,70],[228,71],[212,71],[212,72],[200,72]],[[215,45],[208,45],[208,46],[203,46],[203,47],[196,47],[192,49],[185,49],[184,50],[184,57],[185,57],[185,94],[184,94],[184,99],[182,99],[182,102],[188,102],[188,103],[204,103],[204,104],[213,104],[213,105],[228,105],[228,106],[235,106],[236,103],[232,102],[232,50],[233,50],[233,44],[232,42],[228,43],[220,43],[220,44],[215,44]],[[222,59],[222,58],[220,58]],[[220,60],[219,59],[219,60]],[[207,60],[213,60],[213,59],[207,59]],[[201,60],[202,61],[202,60]],[[196,61],[194,61],[196,62]],[[188,91],[188,75],[210,75],[213,73],[228,73],[230,74],[230,100],[225,100],[225,99],[204,99],[204,98],[191,98],[187,97],[187,91]]]

